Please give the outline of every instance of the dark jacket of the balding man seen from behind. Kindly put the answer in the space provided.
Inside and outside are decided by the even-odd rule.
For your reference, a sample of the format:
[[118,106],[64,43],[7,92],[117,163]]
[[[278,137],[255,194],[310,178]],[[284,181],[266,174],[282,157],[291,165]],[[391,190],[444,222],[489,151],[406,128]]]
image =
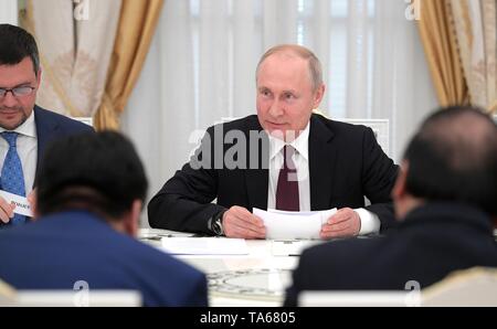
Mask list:
[[304,251],[286,306],[303,290],[404,290],[430,286],[456,269],[497,267],[490,219],[468,205],[434,203],[413,210],[385,237],[329,242]]

